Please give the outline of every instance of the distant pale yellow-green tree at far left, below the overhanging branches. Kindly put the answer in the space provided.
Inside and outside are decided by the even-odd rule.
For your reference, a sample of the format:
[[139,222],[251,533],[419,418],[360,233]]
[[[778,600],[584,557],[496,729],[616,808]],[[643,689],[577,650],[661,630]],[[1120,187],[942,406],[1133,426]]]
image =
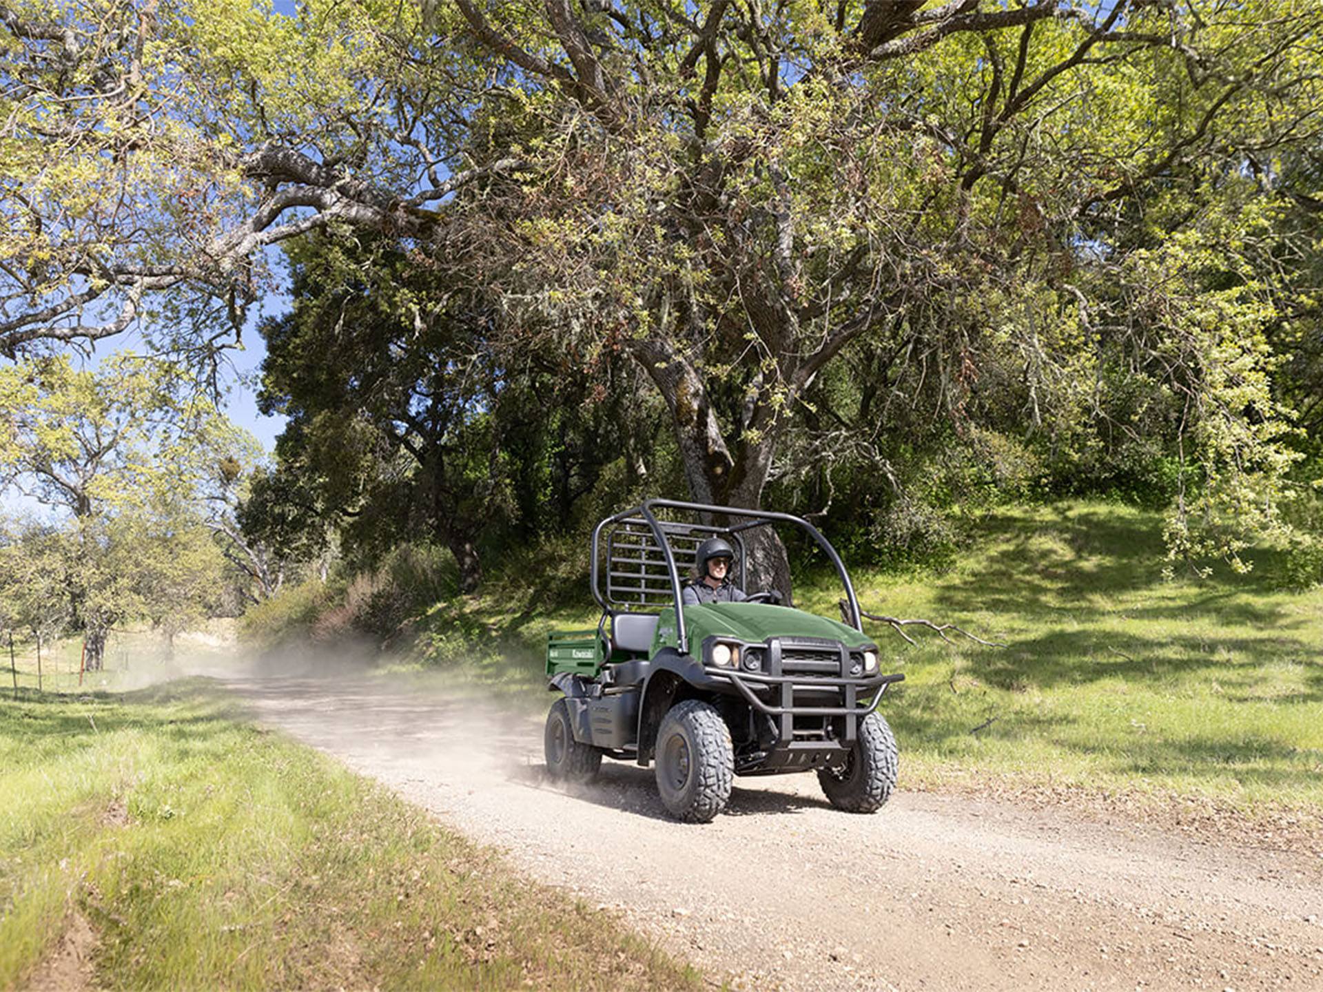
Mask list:
[[0,368],[0,489],[62,515],[8,549],[11,571],[41,575],[25,623],[66,614],[93,669],[126,619],[173,639],[220,607],[222,552],[201,507],[246,436],[189,385],[181,366],[131,354]]

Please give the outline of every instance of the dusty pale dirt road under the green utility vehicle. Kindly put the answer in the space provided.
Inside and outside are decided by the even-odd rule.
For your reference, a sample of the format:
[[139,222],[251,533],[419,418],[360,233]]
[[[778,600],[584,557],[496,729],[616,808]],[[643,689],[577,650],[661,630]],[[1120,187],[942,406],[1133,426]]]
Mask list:
[[380,679],[230,684],[262,720],[744,987],[1323,989],[1316,857],[904,791],[851,816],[804,775],[737,779],[726,815],[687,827],[634,765],[553,787],[540,722]]

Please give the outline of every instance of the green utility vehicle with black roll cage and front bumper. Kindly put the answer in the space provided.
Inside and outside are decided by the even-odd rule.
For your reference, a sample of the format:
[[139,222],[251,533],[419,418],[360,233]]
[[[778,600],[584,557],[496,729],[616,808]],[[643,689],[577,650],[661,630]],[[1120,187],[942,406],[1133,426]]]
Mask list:
[[[704,521],[704,522],[697,522]],[[713,537],[732,545],[745,586],[745,537],[798,526],[844,585],[848,623],[779,604],[683,602],[685,573]],[[648,500],[593,530],[597,630],[548,635],[546,767],[587,780],[602,757],[656,765],[667,809],[706,823],[730,798],[734,775],[815,771],[832,806],[876,812],[896,786],[896,738],[877,704],[902,675],[882,675],[863,632],[840,556],[789,513]]]

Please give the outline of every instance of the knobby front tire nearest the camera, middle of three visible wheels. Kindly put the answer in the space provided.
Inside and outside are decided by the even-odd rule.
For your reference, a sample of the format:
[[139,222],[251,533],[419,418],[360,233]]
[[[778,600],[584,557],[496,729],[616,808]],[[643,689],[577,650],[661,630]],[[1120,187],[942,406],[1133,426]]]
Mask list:
[[658,792],[662,804],[684,823],[709,823],[726,808],[736,758],[730,729],[709,704],[685,700],[672,706],[658,729]]

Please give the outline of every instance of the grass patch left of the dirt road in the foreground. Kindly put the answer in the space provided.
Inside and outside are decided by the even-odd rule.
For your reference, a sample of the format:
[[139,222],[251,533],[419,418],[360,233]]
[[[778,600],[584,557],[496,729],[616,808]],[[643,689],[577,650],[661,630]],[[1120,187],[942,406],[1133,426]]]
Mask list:
[[689,988],[606,914],[200,680],[0,702],[0,988],[78,913],[107,988]]

